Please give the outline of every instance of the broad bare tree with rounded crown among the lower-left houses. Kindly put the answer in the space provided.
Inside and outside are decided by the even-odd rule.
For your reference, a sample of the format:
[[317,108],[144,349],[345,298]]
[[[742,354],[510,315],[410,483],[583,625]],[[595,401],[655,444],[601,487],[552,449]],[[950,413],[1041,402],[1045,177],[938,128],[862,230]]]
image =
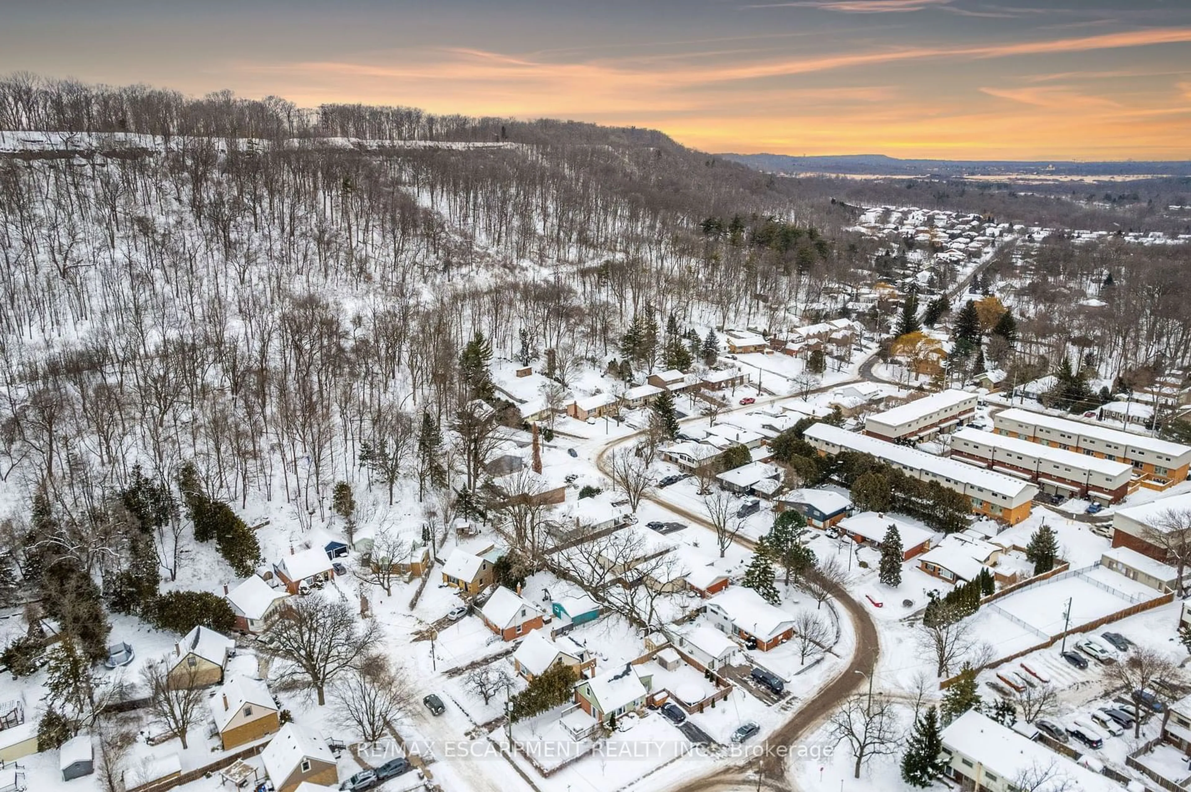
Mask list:
[[326,703],[326,686],[380,641],[375,622],[357,623],[345,601],[322,595],[292,598],[267,635],[272,639],[267,652],[283,664],[282,677],[313,687],[319,706]]

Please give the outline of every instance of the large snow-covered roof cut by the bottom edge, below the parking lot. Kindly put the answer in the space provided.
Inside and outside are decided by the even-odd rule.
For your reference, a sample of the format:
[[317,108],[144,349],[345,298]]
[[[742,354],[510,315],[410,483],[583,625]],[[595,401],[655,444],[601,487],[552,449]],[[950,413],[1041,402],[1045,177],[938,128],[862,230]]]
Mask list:
[[961,754],[1009,780],[1031,773],[1048,773],[1049,778],[1034,792],[1121,792],[1116,781],[1080,767],[1062,754],[1008,729],[987,715],[968,710],[942,731],[943,747]]

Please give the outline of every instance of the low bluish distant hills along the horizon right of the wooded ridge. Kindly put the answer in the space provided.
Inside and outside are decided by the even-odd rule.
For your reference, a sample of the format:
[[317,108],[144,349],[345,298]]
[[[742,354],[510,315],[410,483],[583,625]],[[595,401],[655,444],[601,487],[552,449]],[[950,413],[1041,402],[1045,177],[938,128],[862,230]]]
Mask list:
[[843,174],[849,176],[1189,176],[1191,162],[1015,162],[964,159],[898,159],[885,155],[792,157],[757,153],[717,155],[777,174]]

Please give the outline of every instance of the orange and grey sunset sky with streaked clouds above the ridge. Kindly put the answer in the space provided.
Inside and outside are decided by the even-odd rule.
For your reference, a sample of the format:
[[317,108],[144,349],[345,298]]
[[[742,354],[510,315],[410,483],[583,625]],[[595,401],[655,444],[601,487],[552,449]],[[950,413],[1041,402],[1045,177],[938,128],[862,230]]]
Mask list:
[[1191,0],[11,0],[15,70],[709,151],[1191,159]]

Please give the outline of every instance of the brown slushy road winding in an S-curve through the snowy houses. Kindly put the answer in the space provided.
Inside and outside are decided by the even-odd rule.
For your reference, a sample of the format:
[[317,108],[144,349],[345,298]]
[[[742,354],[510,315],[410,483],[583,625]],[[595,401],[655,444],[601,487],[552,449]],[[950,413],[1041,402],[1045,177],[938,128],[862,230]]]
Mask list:
[[[844,382],[853,382],[854,379],[856,378],[854,377]],[[811,391],[811,394],[833,390],[841,384],[843,384],[843,382],[817,388]],[[780,401],[780,398],[765,401],[772,403]],[[761,403],[762,402],[760,401],[757,402],[757,404]],[[756,406],[752,406],[752,409],[755,408]],[[740,411],[740,409],[741,408],[729,410],[724,413],[724,415]],[[693,423],[698,420],[700,419],[685,419],[681,423]],[[605,465],[607,453],[617,446],[630,442],[641,435],[641,432],[636,432],[606,442],[596,455],[596,466],[600,470],[600,472],[611,478],[607,466]],[[646,495],[644,497],[646,499],[656,503],[657,505],[691,521],[692,523],[715,530],[715,526],[712,526],[706,517],[698,513],[691,511],[690,509],[675,503],[671,503],[669,501],[660,498],[655,494]],[[756,546],[756,542],[746,536],[737,535],[732,541],[750,551]],[[781,727],[769,735],[766,740],[767,746],[788,746],[791,748],[797,748],[798,743],[805,740],[823,722],[825,722],[827,718],[838,709],[838,705],[844,699],[856,692],[862,679],[856,672],[860,671],[866,674],[871,673],[877,665],[877,660],[880,655],[880,643],[877,634],[877,624],[873,622],[872,616],[869,616],[863,604],[853,599],[853,597],[843,587],[836,586],[834,597],[852,621],[853,633],[855,634],[855,648],[852,654],[852,660],[843,671],[841,671],[815,696],[813,699],[806,702],[806,704],[802,709],[797,710],[788,721],[782,723]],[[793,753],[794,750],[787,752],[787,754]],[[778,753],[767,753],[760,758],[749,760],[744,765],[724,767],[707,773],[701,778],[688,779],[674,788],[682,790],[684,792],[718,792],[721,790],[738,790],[742,788],[742,786],[755,788],[757,787],[757,772],[760,772],[763,786],[771,790],[786,792],[794,788],[785,784],[787,773],[786,763],[787,756]]]

